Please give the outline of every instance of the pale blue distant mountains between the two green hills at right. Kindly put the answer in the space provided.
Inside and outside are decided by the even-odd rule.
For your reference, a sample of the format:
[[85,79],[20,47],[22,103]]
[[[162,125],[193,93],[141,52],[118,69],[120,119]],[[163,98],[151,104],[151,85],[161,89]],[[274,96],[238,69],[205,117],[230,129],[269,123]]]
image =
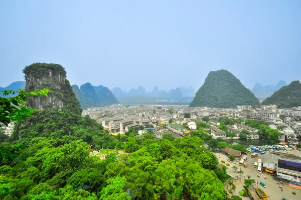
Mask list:
[[280,80],[276,85],[270,84],[262,86],[261,83],[256,83],[251,91],[257,98],[266,98],[285,85],[287,84],[284,80]]

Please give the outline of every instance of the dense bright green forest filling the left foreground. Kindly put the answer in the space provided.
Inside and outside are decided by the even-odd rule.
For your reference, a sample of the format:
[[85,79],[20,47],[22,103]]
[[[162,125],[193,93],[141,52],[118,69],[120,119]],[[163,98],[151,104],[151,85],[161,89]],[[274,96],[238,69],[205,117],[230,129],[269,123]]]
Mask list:
[[[79,110],[73,101],[16,122],[1,143],[0,199],[227,198],[226,167],[199,136],[111,135]],[[100,158],[93,148],[122,153]],[[16,156],[6,156],[9,150]]]

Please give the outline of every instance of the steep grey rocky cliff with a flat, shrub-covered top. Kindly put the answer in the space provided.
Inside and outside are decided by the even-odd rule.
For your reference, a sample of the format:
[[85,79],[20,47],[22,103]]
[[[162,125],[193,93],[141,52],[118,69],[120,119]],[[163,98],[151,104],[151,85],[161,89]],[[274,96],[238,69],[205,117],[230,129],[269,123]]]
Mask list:
[[74,107],[77,113],[81,112],[79,104],[69,81],[66,71],[59,64],[34,63],[26,66],[25,73],[26,91],[48,88],[52,90],[48,96],[30,96],[26,105],[37,110],[63,110],[67,105]]

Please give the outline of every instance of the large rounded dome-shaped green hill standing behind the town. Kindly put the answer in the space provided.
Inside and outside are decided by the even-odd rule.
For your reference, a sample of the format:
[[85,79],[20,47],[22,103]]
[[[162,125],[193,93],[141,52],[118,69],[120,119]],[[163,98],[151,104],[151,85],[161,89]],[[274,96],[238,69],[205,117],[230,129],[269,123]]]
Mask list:
[[197,91],[191,107],[233,108],[237,105],[258,106],[259,101],[239,79],[227,70],[211,71]]

